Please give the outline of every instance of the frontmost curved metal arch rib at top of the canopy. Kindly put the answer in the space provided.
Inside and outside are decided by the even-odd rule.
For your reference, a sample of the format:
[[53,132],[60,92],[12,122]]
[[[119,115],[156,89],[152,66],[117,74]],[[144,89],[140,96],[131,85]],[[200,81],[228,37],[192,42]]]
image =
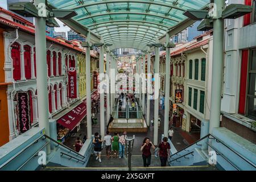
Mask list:
[[133,0],[129,0],[129,1],[113,0],[113,1],[100,1],[100,2],[93,2],[93,3],[85,3],[84,5],[73,7],[71,10],[80,9],[81,7],[96,6],[96,5],[102,5],[102,4],[108,4],[108,3],[144,3],[144,4],[150,4],[150,5],[170,7],[170,8],[176,9],[176,10],[180,10],[180,11],[186,11],[185,9],[183,9],[181,7],[171,5],[171,3],[169,4],[169,3],[160,3],[160,2],[154,2],[154,1],[139,1],[139,0],[135,0],[135,1],[133,1]]

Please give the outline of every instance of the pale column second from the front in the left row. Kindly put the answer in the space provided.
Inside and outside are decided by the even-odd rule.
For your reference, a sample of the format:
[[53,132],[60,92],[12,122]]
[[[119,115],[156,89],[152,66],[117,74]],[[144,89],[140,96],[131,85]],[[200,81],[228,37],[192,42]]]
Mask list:
[[91,112],[91,96],[90,96],[90,47],[86,47],[85,55],[85,69],[86,69],[86,118],[87,118],[87,138],[92,137],[92,112]]

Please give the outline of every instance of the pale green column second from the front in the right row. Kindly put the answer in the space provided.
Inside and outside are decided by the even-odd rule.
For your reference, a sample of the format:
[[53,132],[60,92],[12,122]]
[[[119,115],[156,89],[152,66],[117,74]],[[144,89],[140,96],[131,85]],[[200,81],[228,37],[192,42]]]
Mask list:
[[166,48],[166,86],[164,91],[164,137],[168,137],[170,107],[170,48]]

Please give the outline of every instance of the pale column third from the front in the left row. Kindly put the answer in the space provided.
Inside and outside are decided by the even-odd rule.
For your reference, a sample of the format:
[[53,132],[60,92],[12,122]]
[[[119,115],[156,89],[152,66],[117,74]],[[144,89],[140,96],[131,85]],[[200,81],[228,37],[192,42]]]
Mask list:
[[104,79],[104,47],[100,47],[100,128],[101,136],[105,135],[105,111],[104,111],[104,89],[102,88],[103,79]]

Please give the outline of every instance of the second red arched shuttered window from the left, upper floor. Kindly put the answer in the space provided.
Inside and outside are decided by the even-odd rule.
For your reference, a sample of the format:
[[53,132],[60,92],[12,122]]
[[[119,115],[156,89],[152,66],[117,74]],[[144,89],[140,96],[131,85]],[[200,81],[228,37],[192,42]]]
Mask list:
[[31,47],[24,46],[24,69],[26,79],[31,79]]

